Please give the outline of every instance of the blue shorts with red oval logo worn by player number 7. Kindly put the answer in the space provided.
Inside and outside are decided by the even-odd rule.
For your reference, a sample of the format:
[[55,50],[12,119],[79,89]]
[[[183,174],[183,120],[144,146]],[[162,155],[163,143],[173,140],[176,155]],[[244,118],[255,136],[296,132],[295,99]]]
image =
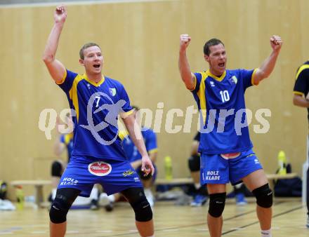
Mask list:
[[88,197],[94,184],[101,184],[107,195],[133,187],[143,188],[136,170],[129,161],[72,156],[60,178],[58,189],[79,189],[79,196]]

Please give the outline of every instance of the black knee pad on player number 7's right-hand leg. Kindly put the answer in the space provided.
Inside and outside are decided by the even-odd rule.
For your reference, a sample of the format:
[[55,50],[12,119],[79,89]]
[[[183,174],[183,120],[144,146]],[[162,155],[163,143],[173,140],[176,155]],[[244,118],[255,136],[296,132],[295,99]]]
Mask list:
[[152,210],[148,203],[145,194],[140,196],[140,200],[135,203],[130,203],[138,222],[148,222],[152,219]]

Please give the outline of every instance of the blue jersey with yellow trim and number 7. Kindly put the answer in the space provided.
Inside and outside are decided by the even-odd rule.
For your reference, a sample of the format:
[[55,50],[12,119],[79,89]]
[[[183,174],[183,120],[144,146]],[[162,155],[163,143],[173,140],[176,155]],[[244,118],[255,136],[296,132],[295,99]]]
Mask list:
[[119,114],[127,116],[133,112],[124,86],[107,76],[94,83],[86,74],[69,70],[58,86],[67,95],[70,108],[76,112],[76,116],[72,116],[72,156],[124,160],[117,119]]

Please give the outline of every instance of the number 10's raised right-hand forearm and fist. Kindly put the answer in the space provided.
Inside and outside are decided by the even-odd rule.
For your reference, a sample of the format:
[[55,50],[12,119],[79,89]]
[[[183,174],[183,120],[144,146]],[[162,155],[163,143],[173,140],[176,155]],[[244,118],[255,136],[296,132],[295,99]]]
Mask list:
[[254,74],[254,85],[257,85],[260,81],[267,78],[272,73],[272,70],[276,65],[277,57],[280,53],[282,43],[283,42],[280,36],[273,35],[270,38],[272,53],[270,53],[270,56],[265,59],[261,67],[256,70],[256,73]]

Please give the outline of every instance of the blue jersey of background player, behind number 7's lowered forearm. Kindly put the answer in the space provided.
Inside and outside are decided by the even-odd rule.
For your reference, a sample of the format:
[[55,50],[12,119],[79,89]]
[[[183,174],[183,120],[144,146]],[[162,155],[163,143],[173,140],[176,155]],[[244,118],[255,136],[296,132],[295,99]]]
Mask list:
[[[154,131],[151,130],[150,128],[143,128],[142,135],[144,138],[148,154],[157,152],[158,150],[157,136],[154,133]],[[140,160],[142,156],[140,155],[140,152],[138,151],[137,147],[134,145],[131,138],[129,137],[129,134],[126,131],[121,131],[119,133],[119,137],[122,140],[122,147],[124,148],[124,154],[126,154],[128,160],[130,162]]]

